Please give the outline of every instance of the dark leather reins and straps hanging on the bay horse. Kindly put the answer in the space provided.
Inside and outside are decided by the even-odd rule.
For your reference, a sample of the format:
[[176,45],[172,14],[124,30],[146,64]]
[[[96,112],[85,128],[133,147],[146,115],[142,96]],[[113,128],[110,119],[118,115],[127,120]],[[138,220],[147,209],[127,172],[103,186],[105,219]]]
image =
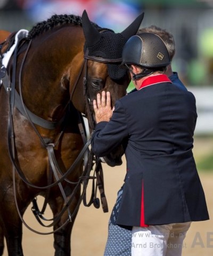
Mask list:
[[[19,44],[21,43],[22,40],[20,40]],[[27,107],[24,105],[23,99],[22,99],[22,93],[21,93],[21,74],[22,74],[22,68],[23,68],[23,64],[24,61],[27,57],[28,51],[30,49],[30,45],[31,45],[31,41],[28,44],[27,50],[24,54],[24,58],[22,60],[21,63],[21,68],[20,68],[20,73],[19,73],[19,92],[18,93],[15,90],[15,74],[16,74],[16,62],[17,62],[17,56],[18,56],[18,45],[15,47],[15,51],[13,53],[13,71],[12,71],[12,79],[11,79],[11,74],[7,74],[6,68],[2,65],[2,56],[0,55],[0,78],[2,80],[2,84],[4,86],[4,89],[6,90],[7,94],[9,95],[9,122],[8,122],[8,127],[7,127],[7,141],[8,141],[8,147],[9,147],[9,154],[10,154],[10,158],[13,164],[13,190],[14,190],[14,199],[15,199],[15,204],[17,206],[17,211],[19,214],[19,217],[21,219],[21,221],[23,222],[23,224],[30,229],[31,231],[34,231],[37,234],[42,234],[42,235],[46,235],[46,234],[52,234],[55,233],[56,231],[59,231],[61,228],[63,228],[65,225],[67,225],[69,222],[72,221],[72,217],[75,216],[75,214],[77,214],[78,208],[80,206],[80,203],[83,201],[85,206],[90,206],[92,204],[94,204],[94,206],[96,208],[100,207],[100,202],[99,202],[99,198],[96,197],[96,193],[97,193],[97,188],[99,188],[100,191],[100,195],[101,195],[101,203],[102,203],[102,208],[104,212],[108,212],[108,204],[106,202],[106,197],[105,197],[105,193],[104,193],[104,182],[103,182],[103,170],[102,170],[102,164],[101,164],[101,159],[97,158],[91,150],[89,150],[89,145],[91,144],[91,139],[87,140],[86,138],[86,131],[85,131],[85,126],[84,126],[84,121],[83,121],[83,116],[81,115],[81,113],[78,113],[78,127],[79,127],[79,131],[81,134],[81,137],[83,139],[84,142],[84,147],[81,150],[81,152],[79,153],[78,157],[75,159],[75,161],[73,162],[73,164],[69,167],[69,169],[63,173],[60,170],[59,164],[56,160],[55,154],[54,154],[54,147],[58,144],[61,135],[63,134],[63,130],[60,132],[60,134],[58,135],[58,138],[56,139],[56,141],[54,143],[46,143],[45,140],[42,138],[42,136],[40,135],[40,133],[38,132],[38,130],[36,129],[35,124],[40,125],[42,127],[45,127],[46,129],[55,129],[56,126],[63,124],[63,120],[64,117],[61,119],[61,121],[59,122],[49,122],[46,121],[43,118],[40,118],[38,116],[36,116],[35,114],[31,113],[31,111],[29,109],[27,109]],[[1,50],[1,48],[0,48]],[[118,63],[121,60],[120,59],[116,59],[116,60],[111,60],[111,59],[103,59],[103,58],[99,58],[99,57],[91,57],[87,55],[87,52],[85,53],[85,57],[84,57],[84,61],[81,65],[81,68],[79,70],[79,74],[77,76],[76,82],[72,88],[72,91],[70,93],[70,101],[72,100],[72,96],[73,93],[75,92],[76,86],[79,82],[80,76],[83,73],[84,70],[84,96],[85,96],[85,103],[86,103],[86,117],[88,119],[88,123],[89,123],[89,127],[94,130],[95,127],[95,121],[93,118],[93,115],[91,113],[91,110],[89,109],[89,95],[88,95],[88,87],[87,87],[87,60],[93,60],[93,61],[99,61],[99,62],[103,62],[103,63]],[[1,84],[0,84],[1,86]],[[25,116],[28,121],[30,122],[31,126],[33,127],[33,129],[35,130],[36,134],[38,135],[40,142],[42,143],[42,145],[47,149],[47,153],[48,153],[48,157],[49,157],[49,161],[50,161],[50,165],[51,165],[51,169],[52,172],[50,172],[50,177],[48,177],[47,179],[47,186],[43,186],[43,187],[39,187],[36,186],[34,184],[32,184],[31,182],[29,182],[26,177],[24,176],[24,173],[22,172],[22,170],[20,169],[18,163],[17,163],[17,159],[15,158],[15,140],[14,140],[14,128],[13,128],[13,110],[14,107],[17,107],[20,111],[20,113]],[[76,166],[79,164],[80,161],[82,161],[82,159],[84,158],[84,170],[82,175],[79,177],[79,180],[76,182],[70,181],[67,179],[68,175],[70,175],[72,173],[73,170],[75,170]],[[91,176],[91,170],[93,169],[94,166],[94,173]],[[21,180],[26,183],[26,185],[28,185],[29,187],[35,188],[35,189],[46,189],[46,196],[45,196],[45,201],[44,201],[44,205],[42,207],[42,211],[39,210],[38,205],[37,205],[37,199],[34,198],[32,200],[32,212],[34,213],[36,219],[38,220],[38,222],[40,223],[40,225],[44,226],[44,227],[52,227],[55,225],[55,223],[57,223],[62,214],[65,211],[68,211],[68,219],[67,221],[65,221],[63,223],[62,226],[60,226],[58,229],[55,229],[54,231],[51,231],[49,233],[41,233],[39,231],[36,231],[32,228],[30,228],[27,223],[23,220],[22,218],[22,214],[19,211],[19,207],[18,207],[18,202],[17,202],[17,195],[16,195],[16,187],[15,187],[15,170],[17,171],[19,177],[21,178]],[[52,182],[53,180],[53,175],[55,178],[55,181]],[[89,202],[86,202],[86,189],[87,189],[87,185],[88,185],[88,181],[92,179],[92,193],[91,193],[91,198],[89,199]],[[96,180],[96,184],[95,184],[95,180]],[[62,182],[66,181],[72,185],[75,185],[75,188],[73,189],[71,195],[69,196],[69,198],[67,198],[65,196],[65,192],[62,186]],[[50,194],[50,188],[52,188],[53,186],[59,186],[59,189],[61,191],[62,197],[64,199],[64,207],[61,210],[61,212],[52,219],[46,219],[43,217],[43,214],[45,212],[47,203],[48,203],[48,196]],[[82,185],[82,191],[81,191],[81,195],[79,197],[77,206],[75,208],[75,210],[71,213],[69,210],[69,205],[72,202],[72,199],[75,197],[77,191],[79,190],[79,188]],[[50,225],[44,225],[44,223],[42,222],[42,220],[45,221],[52,221],[52,223]]]

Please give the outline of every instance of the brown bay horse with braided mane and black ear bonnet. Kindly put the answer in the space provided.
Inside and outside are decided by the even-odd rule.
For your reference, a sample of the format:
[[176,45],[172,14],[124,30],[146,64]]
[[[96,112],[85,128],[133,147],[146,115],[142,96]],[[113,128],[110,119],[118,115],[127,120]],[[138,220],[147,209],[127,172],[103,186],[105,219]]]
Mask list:
[[[84,172],[93,165],[84,165],[89,143],[82,115],[92,132],[96,94],[110,91],[112,105],[126,94],[130,76],[120,65],[122,47],[142,20],[143,14],[114,33],[91,22],[86,11],[82,17],[55,14],[1,45],[0,255],[4,237],[9,256],[23,255],[22,217],[31,202],[37,219],[45,219],[41,215],[50,205],[53,219],[47,227],[53,231],[46,234],[54,235],[54,255],[71,255],[81,185],[89,179]],[[114,166],[119,157],[105,160]],[[45,198],[39,212],[38,195]]]

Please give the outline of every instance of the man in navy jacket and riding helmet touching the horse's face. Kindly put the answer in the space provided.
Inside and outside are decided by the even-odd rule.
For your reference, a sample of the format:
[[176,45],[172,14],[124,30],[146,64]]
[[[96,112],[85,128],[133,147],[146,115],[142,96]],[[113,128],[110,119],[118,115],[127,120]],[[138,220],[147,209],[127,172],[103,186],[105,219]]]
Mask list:
[[132,36],[122,59],[138,91],[118,100],[113,114],[110,93],[97,94],[92,150],[101,157],[125,149],[116,224],[132,229],[132,255],[179,256],[191,221],[209,219],[192,154],[195,99],[165,75],[170,58],[159,36]]

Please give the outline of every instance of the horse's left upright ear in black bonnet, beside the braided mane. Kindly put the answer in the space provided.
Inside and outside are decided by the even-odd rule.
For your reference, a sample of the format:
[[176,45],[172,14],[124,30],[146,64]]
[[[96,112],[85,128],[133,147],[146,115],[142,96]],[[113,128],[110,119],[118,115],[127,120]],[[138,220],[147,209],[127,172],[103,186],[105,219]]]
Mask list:
[[84,10],[82,14],[82,28],[88,46],[92,46],[100,41],[101,34],[92,25],[91,21],[88,18],[86,10]]

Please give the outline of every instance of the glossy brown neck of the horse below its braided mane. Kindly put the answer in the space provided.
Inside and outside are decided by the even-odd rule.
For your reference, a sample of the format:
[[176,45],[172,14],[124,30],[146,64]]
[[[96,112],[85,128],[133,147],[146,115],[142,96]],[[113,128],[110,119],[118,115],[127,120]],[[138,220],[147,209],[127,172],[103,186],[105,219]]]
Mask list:
[[[65,32],[59,30],[46,39],[35,38],[22,70],[24,102],[45,119],[58,119],[64,112],[84,59],[81,33],[68,36]],[[78,101],[84,102],[82,96],[83,90],[78,93]]]

